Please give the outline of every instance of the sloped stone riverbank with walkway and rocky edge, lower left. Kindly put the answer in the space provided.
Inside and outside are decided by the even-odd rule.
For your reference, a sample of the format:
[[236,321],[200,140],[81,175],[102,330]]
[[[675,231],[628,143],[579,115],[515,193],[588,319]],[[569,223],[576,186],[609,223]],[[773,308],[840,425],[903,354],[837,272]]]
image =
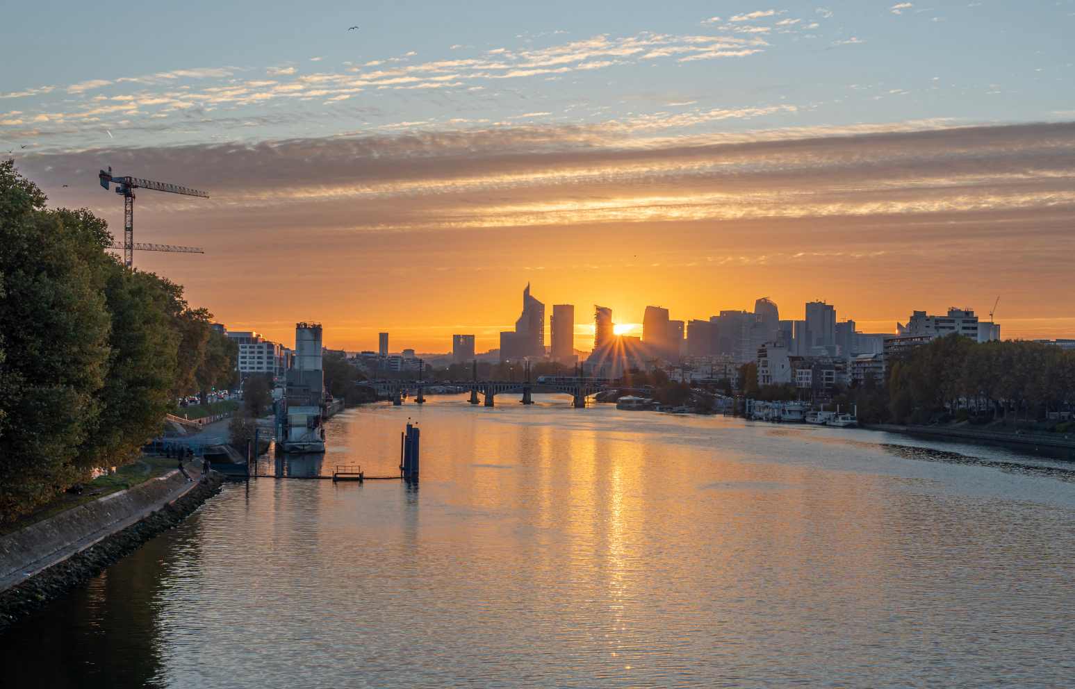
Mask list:
[[170,472],[0,537],[0,632],[183,521],[223,482]]

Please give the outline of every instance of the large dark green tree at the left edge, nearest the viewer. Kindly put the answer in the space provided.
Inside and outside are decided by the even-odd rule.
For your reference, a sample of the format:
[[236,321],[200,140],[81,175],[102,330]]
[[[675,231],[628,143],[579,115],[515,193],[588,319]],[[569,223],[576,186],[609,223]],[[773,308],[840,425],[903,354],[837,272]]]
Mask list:
[[[45,196],[0,163],[0,514],[14,517],[77,480],[100,413],[111,318],[86,233],[45,211]],[[100,245],[98,245],[100,250]]]

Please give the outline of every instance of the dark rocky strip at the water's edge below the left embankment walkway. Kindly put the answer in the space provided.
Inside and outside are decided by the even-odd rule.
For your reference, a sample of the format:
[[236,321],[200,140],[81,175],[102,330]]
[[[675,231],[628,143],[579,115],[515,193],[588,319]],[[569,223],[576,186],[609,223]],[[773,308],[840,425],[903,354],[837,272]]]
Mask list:
[[213,472],[183,497],[113,533],[99,543],[0,593],[0,633],[72,588],[88,582],[143,543],[182,522],[203,502],[220,491],[224,477]]

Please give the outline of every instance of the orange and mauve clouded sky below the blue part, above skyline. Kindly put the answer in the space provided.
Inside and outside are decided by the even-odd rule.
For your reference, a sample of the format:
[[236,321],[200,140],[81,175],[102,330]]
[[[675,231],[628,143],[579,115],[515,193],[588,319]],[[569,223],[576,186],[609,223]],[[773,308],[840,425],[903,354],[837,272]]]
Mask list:
[[[235,330],[285,344],[320,320],[326,345],[498,346],[527,282],[546,304],[641,322],[822,299],[864,331],[912,310],[970,306],[1006,338],[1075,336],[1075,125],[891,125],[632,139],[597,128],[377,134],[271,146],[56,154],[22,170],[56,205],[121,225],[115,195],[61,188],[117,171],[198,181],[212,198],[142,192],[139,254]],[[585,329],[582,329],[585,330]],[[585,348],[580,334],[576,346]]]

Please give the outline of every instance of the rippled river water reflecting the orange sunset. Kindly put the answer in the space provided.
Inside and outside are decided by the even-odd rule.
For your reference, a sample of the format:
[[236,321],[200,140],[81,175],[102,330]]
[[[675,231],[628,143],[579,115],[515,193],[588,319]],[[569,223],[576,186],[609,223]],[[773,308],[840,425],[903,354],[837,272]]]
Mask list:
[[1075,464],[861,430],[371,406],[0,637],[3,687],[1059,687]]

